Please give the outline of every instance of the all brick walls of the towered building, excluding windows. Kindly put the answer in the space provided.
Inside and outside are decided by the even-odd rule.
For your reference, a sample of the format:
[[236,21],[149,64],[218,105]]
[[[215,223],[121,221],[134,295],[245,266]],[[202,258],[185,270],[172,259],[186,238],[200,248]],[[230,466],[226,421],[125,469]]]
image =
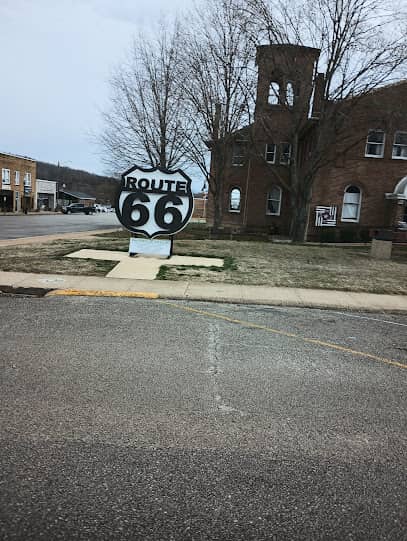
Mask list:
[[[280,165],[278,151],[279,145],[287,140],[293,127],[298,125],[298,120],[308,118],[314,61],[317,57],[316,49],[293,46],[287,49],[282,46],[258,48],[255,121],[245,132],[247,155],[242,165],[233,165],[233,145],[230,148],[223,179],[224,227],[289,234],[292,215],[290,168]],[[301,70],[303,78],[296,81],[294,75],[298,75]],[[280,101],[284,102],[286,83],[290,80],[293,80],[296,92],[294,107],[287,107],[284,103],[270,104],[270,83],[278,82],[283,89]],[[323,77],[319,75],[317,86],[321,86],[322,82]],[[319,171],[312,190],[308,227],[309,238],[312,240],[318,239],[321,231],[328,229],[315,227],[315,207],[319,205],[337,207],[337,225],[330,229],[335,232],[338,240],[342,231],[354,232],[355,240],[360,239],[361,232],[366,238],[366,232],[370,230],[392,227],[399,215],[405,212],[404,205],[400,210],[402,205],[386,199],[385,194],[393,192],[401,178],[407,176],[407,160],[392,157],[395,132],[407,132],[407,81],[372,92],[363,99],[348,100],[341,105],[340,112],[346,118],[343,132],[333,141],[329,167]],[[317,119],[309,124],[314,127],[303,136],[298,153],[300,160],[306,160],[306,146],[313,144],[313,133],[318,130]],[[382,158],[365,157],[366,138],[370,129],[380,129],[386,134]],[[277,144],[276,160],[272,165],[264,160],[267,143]],[[269,215],[266,211],[268,193],[273,186],[282,190],[279,216]],[[357,186],[361,190],[358,222],[342,220],[343,197],[347,186]],[[238,212],[230,211],[230,194],[234,188],[238,188],[241,193]],[[209,224],[213,223],[213,208],[213,198],[209,194]]]

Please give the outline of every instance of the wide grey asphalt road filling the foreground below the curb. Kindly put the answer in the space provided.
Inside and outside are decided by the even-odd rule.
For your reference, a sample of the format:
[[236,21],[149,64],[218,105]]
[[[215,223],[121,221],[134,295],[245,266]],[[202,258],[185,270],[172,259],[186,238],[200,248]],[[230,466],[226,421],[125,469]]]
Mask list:
[[3,296],[0,336],[1,539],[406,539],[407,317]]

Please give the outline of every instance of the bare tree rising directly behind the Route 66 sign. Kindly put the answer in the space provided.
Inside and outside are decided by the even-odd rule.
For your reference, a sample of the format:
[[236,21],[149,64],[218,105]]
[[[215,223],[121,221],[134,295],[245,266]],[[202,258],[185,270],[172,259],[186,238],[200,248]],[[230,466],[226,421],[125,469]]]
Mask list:
[[115,173],[134,163],[166,169],[185,164],[190,130],[180,69],[175,24],[161,26],[156,39],[139,35],[128,62],[115,70],[100,137],[105,162]]

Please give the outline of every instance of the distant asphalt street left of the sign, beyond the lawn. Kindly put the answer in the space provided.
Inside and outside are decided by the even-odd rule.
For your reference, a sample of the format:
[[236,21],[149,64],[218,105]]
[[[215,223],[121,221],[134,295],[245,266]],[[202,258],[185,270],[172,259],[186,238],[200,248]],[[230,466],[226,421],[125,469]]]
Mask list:
[[120,227],[114,212],[0,216],[0,240]]

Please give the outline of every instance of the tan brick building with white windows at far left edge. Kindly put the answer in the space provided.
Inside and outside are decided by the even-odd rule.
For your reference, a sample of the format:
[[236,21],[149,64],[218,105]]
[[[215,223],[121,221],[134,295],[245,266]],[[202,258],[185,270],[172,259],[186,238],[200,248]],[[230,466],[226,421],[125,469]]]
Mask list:
[[34,209],[37,172],[35,160],[0,153],[0,172],[0,209],[7,212]]

